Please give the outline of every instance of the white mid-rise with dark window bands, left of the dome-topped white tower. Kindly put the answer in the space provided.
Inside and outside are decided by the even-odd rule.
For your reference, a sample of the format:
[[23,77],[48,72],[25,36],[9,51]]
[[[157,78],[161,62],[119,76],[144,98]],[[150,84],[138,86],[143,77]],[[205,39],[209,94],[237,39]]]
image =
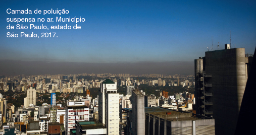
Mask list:
[[89,121],[89,108],[84,102],[68,102],[66,107],[66,135],[75,128],[75,121]]

